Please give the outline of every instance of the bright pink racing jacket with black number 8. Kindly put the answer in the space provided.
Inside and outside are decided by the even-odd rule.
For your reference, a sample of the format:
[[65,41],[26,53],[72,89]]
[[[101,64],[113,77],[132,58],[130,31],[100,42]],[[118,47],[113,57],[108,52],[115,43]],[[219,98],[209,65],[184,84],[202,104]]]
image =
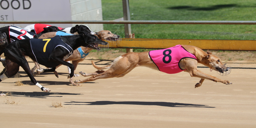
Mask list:
[[168,74],[175,74],[186,70],[179,67],[179,61],[181,61],[181,59],[196,59],[195,55],[189,53],[181,45],[176,45],[167,49],[152,50],[149,51],[148,54],[154,64],[158,67],[159,71]]

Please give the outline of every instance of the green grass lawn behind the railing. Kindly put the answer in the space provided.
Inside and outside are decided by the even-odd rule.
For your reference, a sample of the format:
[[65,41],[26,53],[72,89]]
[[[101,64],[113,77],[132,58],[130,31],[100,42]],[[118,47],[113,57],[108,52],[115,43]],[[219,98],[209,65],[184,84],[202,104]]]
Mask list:
[[[256,21],[255,0],[129,0],[131,20]],[[102,0],[103,20],[123,17],[122,0]],[[256,40],[255,25],[132,24],[135,38]],[[123,24],[104,24],[124,37]]]

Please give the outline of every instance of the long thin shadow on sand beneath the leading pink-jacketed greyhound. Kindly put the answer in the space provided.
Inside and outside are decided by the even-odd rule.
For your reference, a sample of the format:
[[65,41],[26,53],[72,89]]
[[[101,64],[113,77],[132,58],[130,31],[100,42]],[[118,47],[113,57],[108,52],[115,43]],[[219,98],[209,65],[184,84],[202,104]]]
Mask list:
[[208,105],[201,104],[184,104],[184,103],[171,103],[171,102],[138,102],[138,101],[96,101],[96,102],[64,102],[65,105],[110,105],[110,104],[127,104],[127,105],[156,105],[163,107],[198,107],[198,108],[215,108],[208,107]]

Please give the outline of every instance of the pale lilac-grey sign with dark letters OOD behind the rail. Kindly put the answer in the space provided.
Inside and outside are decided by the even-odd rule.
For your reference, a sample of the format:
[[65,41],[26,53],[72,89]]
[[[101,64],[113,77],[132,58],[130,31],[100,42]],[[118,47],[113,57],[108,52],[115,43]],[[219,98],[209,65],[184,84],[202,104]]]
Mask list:
[[[0,0],[0,21],[67,21],[71,19],[69,0]],[[0,24],[0,27],[13,24]],[[25,27],[29,24],[14,24]],[[72,24],[50,24],[61,28]]]

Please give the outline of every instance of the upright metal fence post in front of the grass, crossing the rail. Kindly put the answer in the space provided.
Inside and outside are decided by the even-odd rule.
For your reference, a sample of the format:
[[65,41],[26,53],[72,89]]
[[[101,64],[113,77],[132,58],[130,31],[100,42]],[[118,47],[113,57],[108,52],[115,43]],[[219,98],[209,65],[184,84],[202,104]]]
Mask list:
[[[129,0],[123,0],[123,14],[124,14],[124,20],[131,20]],[[125,38],[129,38],[129,35],[132,34],[131,24],[124,24],[124,34],[125,34]],[[132,49],[126,49],[126,53],[129,53],[129,52],[132,52]]]

